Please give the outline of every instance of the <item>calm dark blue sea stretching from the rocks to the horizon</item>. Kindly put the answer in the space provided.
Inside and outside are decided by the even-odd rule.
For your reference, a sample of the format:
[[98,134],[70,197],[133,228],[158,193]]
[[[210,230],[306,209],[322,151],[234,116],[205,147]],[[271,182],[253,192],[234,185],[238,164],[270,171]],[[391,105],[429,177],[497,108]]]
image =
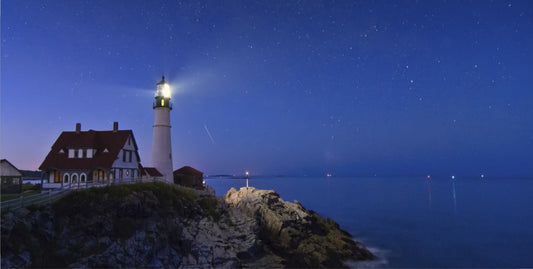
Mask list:
[[[244,179],[206,180],[223,195]],[[252,178],[336,220],[378,267],[533,267],[533,179]]]

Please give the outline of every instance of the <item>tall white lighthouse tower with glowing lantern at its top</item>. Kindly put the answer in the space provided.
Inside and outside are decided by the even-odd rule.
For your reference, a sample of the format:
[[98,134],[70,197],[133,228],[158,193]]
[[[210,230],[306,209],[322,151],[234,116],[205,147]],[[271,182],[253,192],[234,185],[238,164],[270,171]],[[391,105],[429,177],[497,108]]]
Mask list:
[[170,86],[165,76],[157,83],[154,101],[154,136],[152,140],[152,166],[163,174],[164,180],[174,182],[172,176],[172,146],[170,143]]

